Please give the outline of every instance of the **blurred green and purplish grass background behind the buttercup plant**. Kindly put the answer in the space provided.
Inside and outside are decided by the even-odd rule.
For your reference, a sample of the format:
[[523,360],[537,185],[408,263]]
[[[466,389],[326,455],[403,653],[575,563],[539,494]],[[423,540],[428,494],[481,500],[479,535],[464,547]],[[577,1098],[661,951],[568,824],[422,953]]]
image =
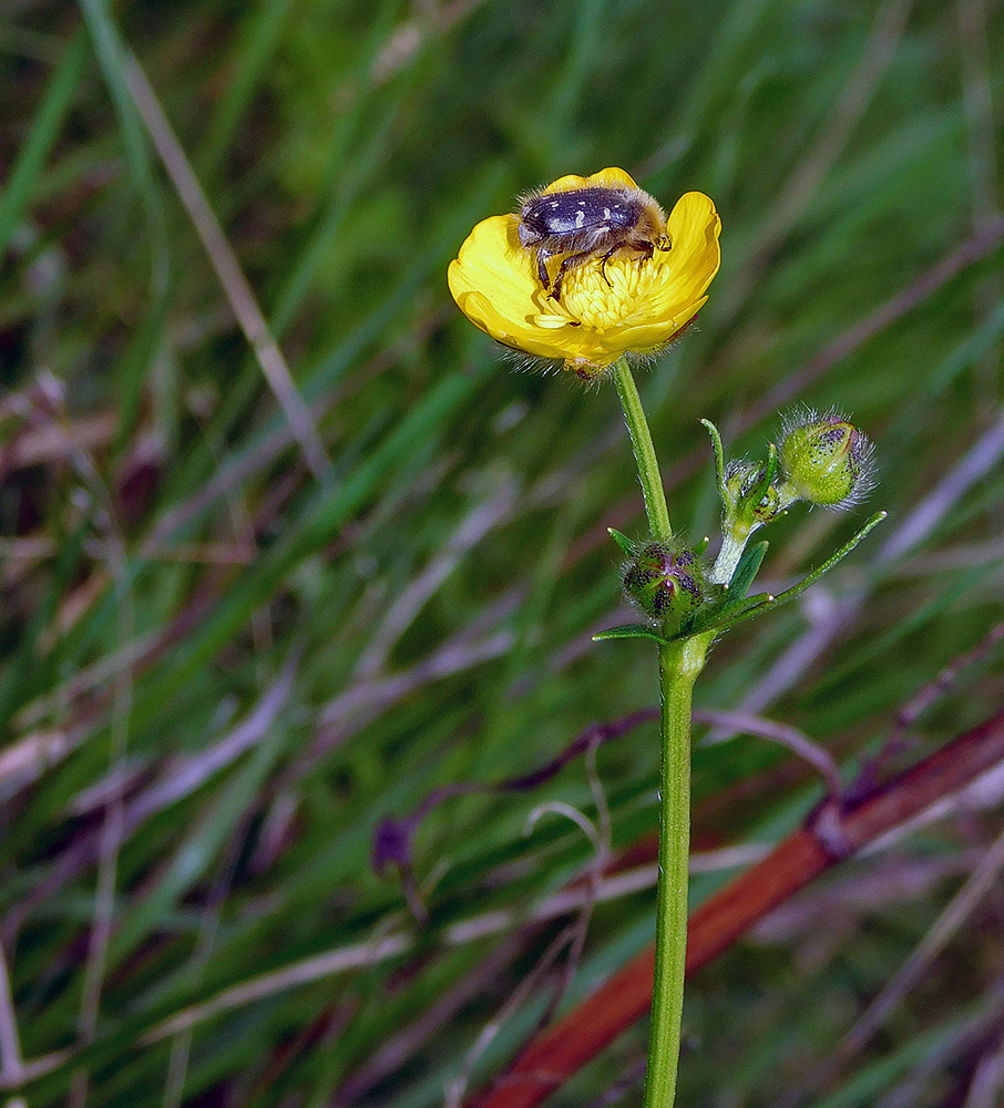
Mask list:
[[[522,924],[596,856],[560,812],[524,833],[541,804],[606,807],[616,850],[654,831],[652,725],[592,779],[578,759],[436,809],[428,919],[370,865],[377,823],[432,789],[531,772],[654,702],[643,645],[590,643],[624,616],[604,529],[643,527],[613,389],[512,372],[445,289],[523,189],[621,165],[721,213],[699,327],[641,380],[691,535],[716,525],[699,417],[752,452],[779,408],[838,404],[877,442],[889,522],[724,639],[699,707],[800,728],[850,779],[1002,618],[993,0],[12,0],[0,47],[11,1108],[457,1102],[562,984],[564,1010],[650,940],[648,885],[596,906],[572,963],[546,957],[567,916]],[[228,257],[299,406],[235,321]],[[792,512],[767,584],[864,511]],[[908,710],[901,757],[1000,707],[1000,646],[960,668]],[[720,728],[694,770],[695,849],[739,848],[721,865],[821,792]],[[1004,1102],[1000,882],[833,1064],[1001,811],[956,806],[838,870],[696,978],[680,1102]],[[735,872],[716,858],[695,902]],[[552,1102],[637,1102],[644,1048],[639,1026]]]

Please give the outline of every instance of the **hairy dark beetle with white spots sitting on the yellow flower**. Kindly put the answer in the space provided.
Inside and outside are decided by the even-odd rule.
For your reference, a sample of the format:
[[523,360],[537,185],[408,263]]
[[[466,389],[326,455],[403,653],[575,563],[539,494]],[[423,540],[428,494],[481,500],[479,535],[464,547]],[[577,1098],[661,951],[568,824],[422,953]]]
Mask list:
[[[641,188],[591,185],[567,192],[534,193],[520,207],[520,245],[532,249],[544,291],[561,299],[561,287],[570,269],[598,258],[606,263],[617,250],[636,250],[650,258],[653,250],[668,249],[666,215]],[[549,259],[564,255],[552,279]]]

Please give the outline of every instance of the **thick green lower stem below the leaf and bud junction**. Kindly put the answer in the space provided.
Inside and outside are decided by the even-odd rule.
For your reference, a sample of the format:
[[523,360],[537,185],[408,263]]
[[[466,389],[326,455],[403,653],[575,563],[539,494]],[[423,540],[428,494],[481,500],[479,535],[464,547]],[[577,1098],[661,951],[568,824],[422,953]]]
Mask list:
[[687,957],[690,697],[714,637],[714,632],[691,635],[659,647],[659,883],[645,1108],[672,1108],[676,1097]]

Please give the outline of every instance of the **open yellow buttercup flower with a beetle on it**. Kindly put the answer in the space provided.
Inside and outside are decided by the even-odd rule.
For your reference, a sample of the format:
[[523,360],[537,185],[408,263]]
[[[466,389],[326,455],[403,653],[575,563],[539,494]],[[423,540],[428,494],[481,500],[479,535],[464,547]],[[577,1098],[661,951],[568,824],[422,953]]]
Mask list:
[[[649,219],[664,218],[623,170],[561,177],[536,195],[597,188],[622,196],[629,191],[644,198]],[[635,245],[576,254],[562,268],[555,296],[553,284],[549,290],[541,281],[536,252],[520,242],[520,216],[491,216],[474,227],[450,264],[450,291],[471,322],[503,346],[561,360],[578,377],[592,379],[625,355],[660,350],[707,300],[720,260],[721,220],[715,205],[703,193],[686,193],[664,228],[665,235],[650,244],[650,256]],[[570,253],[552,246],[545,260]],[[559,267],[547,271],[552,281]]]

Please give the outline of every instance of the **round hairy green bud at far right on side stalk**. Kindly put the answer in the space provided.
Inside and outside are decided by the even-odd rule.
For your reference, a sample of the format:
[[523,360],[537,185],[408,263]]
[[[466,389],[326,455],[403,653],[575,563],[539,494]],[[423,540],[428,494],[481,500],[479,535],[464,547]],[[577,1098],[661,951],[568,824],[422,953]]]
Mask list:
[[848,507],[871,489],[872,444],[841,416],[805,410],[785,421],[781,469],[787,501]]

